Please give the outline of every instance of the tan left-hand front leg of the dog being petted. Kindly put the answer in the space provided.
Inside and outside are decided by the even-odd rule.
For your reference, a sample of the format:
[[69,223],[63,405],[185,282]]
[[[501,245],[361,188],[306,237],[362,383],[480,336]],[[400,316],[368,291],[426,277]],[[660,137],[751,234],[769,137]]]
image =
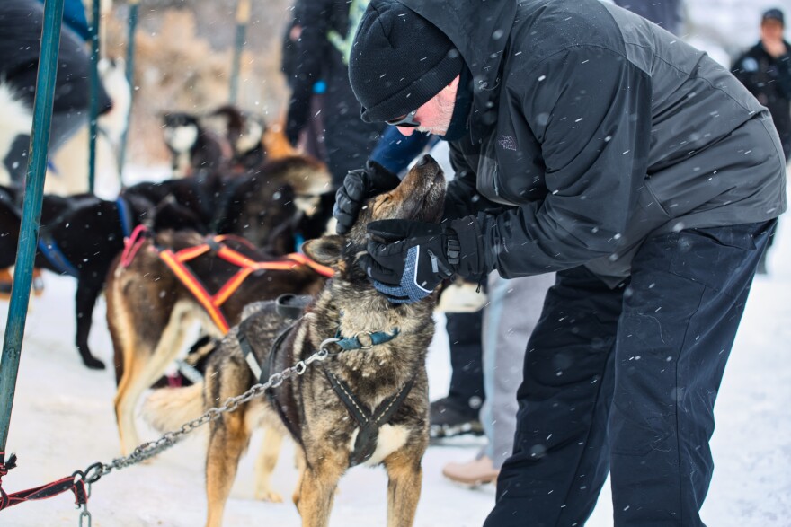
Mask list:
[[335,489],[348,459],[326,452],[327,455],[307,462],[299,485],[298,511],[302,527],[327,527],[333,509]]

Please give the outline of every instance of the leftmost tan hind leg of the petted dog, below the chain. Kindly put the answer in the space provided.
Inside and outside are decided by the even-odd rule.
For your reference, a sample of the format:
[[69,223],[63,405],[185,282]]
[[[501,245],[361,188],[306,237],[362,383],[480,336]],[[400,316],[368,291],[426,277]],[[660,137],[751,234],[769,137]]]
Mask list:
[[206,498],[209,514],[206,527],[220,527],[228,495],[236,479],[239,459],[250,441],[244,424],[244,408],[223,414],[213,421],[209,430],[206,453]]

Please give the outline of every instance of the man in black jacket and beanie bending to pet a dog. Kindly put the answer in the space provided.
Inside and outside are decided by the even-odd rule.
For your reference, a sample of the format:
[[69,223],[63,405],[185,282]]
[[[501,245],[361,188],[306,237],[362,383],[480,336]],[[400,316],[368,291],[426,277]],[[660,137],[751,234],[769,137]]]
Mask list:
[[[557,272],[485,524],[582,525],[609,470],[616,525],[702,525],[716,392],[786,209],[769,112],[597,0],[373,0],[349,74],[363,119],[444,136],[456,169],[443,224],[369,224],[382,294]],[[339,230],[387,181],[347,177]]]

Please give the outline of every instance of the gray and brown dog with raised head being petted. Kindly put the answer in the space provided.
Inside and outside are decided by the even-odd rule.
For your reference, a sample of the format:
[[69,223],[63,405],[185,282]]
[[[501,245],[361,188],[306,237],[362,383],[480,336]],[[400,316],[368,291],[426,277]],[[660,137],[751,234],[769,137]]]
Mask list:
[[[312,356],[324,339],[334,337],[339,329],[344,337],[365,332],[390,333],[396,328],[399,333],[369,349],[344,351],[313,363],[303,375],[274,389],[274,400],[253,399],[211,423],[206,460],[207,526],[221,524],[239,459],[254,428],[262,424],[277,426],[283,434],[290,431],[301,446],[301,474],[293,497],[303,526],[328,524],[334,492],[350,466],[360,428],[335,395],[324,368],[346,382],[354,397],[370,412],[413,380],[401,407],[378,429],[376,450],[366,461],[368,465],[383,464],[387,470],[387,526],[413,524],[421,491],[421,460],[429,439],[425,357],[433,336],[434,299],[402,305],[389,303],[369,283],[357,259],[366,247],[369,221],[403,218],[437,222],[444,189],[439,165],[426,156],[397,189],[371,198],[346,236],[324,236],[306,242],[306,253],[333,267],[335,276],[289,332],[271,373]],[[252,344],[259,364],[264,364],[274,340],[293,321],[280,317],[271,302],[257,303],[247,310],[245,314],[250,318],[242,326],[244,336]],[[173,429],[243,393],[257,381],[239,345],[241,330],[232,329],[218,343],[202,385],[152,394],[144,408],[150,423],[159,429]],[[274,405],[280,407],[280,413]]]

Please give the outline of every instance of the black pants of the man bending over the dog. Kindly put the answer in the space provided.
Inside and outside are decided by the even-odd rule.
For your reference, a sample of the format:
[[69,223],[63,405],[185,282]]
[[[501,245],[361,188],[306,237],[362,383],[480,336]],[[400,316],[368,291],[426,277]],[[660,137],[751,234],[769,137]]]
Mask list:
[[649,239],[615,289],[557,274],[486,527],[582,525],[608,470],[616,526],[703,525],[715,398],[775,224]]

